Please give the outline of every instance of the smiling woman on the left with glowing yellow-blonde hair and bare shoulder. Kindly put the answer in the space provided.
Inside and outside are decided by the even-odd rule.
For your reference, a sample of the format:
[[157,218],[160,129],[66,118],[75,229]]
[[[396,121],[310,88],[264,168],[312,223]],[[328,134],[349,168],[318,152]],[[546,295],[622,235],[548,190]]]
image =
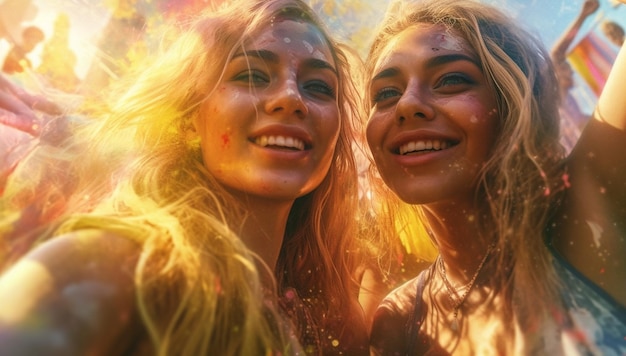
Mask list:
[[11,176],[3,351],[367,354],[349,57],[299,0],[228,1],[168,38]]

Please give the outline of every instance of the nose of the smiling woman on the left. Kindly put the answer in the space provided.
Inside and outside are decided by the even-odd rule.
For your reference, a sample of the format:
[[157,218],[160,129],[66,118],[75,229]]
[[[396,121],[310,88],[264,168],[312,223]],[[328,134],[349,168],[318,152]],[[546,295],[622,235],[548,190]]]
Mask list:
[[268,114],[295,114],[299,118],[306,117],[309,108],[302,99],[297,81],[289,78],[276,84],[275,89],[268,93],[265,111]]

